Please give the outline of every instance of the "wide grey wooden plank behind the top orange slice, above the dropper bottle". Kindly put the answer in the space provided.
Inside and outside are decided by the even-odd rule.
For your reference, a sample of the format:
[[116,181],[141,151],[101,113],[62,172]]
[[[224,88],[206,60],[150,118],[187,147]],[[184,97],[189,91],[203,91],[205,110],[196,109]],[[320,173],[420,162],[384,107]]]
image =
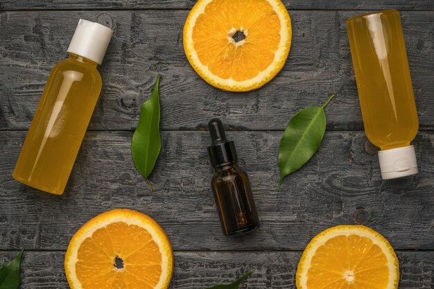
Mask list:
[[[24,130],[53,65],[67,54],[76,21],[98,11],[0,14],[0,130]],[[283,130],[302,107],[327,107],[329,130],[362,130],[345,20],[357,11],[293,11],[293,44],[279,76],[231,94],[207,85],[182,48],[187,11],[110,11],[116,33],[101,67],[103,91],[90,128],[130,130],[162,73],[163,130],[204,128],[219,116],[234,130]],[[421,129],[434,128],[434,12],[402,12]],[[64,19],[71,19],[65,22]]]

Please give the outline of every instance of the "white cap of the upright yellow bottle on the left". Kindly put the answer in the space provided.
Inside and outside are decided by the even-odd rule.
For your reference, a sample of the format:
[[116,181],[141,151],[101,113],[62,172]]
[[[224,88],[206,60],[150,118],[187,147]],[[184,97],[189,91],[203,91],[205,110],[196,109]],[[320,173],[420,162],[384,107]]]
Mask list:
[[80,19],[67,51],[101,64],[112,35],[108,27]]

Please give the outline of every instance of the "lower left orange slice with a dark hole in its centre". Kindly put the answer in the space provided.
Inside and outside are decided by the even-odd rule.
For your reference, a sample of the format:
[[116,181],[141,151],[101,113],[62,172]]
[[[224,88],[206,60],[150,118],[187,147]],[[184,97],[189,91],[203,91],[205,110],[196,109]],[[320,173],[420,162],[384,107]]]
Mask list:
[[155,220],[137,211],[115,209],[76,232],[64,268],[71,289],[168,288],[172,247]]

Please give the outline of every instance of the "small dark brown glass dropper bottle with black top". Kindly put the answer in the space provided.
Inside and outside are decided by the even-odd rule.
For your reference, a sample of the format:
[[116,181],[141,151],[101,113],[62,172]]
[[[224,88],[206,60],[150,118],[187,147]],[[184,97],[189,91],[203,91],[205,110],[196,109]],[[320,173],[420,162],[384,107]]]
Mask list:
[[208,147],[209,158],[216,170],[211,185],[223,233],[229,236],[256,229],[259,218],[249,177],[236,164],[234,142],[227,141],[219,119],[211,119],[208,127],[212,139]]

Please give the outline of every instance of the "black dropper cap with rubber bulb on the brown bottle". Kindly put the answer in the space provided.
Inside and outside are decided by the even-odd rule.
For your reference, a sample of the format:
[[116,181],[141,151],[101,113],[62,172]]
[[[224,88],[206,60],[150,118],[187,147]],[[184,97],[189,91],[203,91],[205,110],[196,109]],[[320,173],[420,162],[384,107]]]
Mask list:
[[223,123],[220,119],[211,119],[208,123],[211,134],[211,146],[208,147],[209,159],[212,166],[223,166],[237,161],[234,141],[226,139]]

